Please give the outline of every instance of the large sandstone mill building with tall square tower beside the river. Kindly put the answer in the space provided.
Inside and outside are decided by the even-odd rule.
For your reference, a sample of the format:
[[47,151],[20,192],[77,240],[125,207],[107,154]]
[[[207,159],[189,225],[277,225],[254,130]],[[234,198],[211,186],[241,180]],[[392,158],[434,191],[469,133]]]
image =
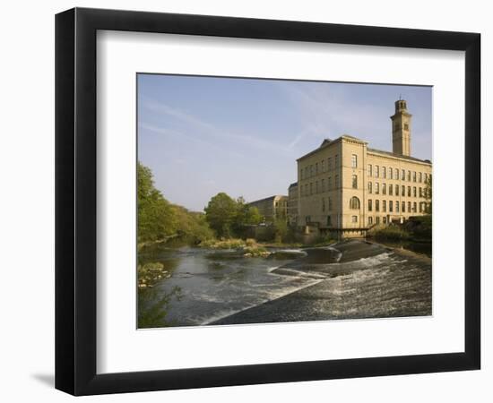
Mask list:
[[298,227],[362,236],[377,224],[427,212],[432,165],[411,157],[411,114],[395,102],[393,152],[350,135],[324,140],[298,159]]

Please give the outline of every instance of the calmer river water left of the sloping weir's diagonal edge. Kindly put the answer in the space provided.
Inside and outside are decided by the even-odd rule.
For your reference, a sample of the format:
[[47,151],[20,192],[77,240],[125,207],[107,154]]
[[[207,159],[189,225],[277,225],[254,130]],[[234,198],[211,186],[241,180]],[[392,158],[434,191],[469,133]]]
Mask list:
[[230,250],[147,248],[139,253],[139,264],[160,262],[169,278],[139,290],[139,328],[206,324],[315,284],[272,273],[300,255],[287,251],[254,258]]

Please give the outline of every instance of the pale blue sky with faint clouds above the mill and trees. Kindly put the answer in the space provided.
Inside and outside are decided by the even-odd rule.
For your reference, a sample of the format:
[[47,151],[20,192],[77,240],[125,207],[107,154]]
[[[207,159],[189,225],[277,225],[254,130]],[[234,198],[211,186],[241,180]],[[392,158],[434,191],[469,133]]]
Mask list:
[[226,192],[287,194],[296,159],[343,133],[392,150],[394,101],[412,114],[411,155],[431,159],[431,87],[138,75],[138,158],[171,202],[201,211]]

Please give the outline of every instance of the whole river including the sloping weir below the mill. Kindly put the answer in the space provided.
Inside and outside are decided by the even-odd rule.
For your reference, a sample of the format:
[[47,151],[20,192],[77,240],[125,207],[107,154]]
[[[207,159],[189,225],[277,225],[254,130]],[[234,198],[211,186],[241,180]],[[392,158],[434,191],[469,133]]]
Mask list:
[[431,314],[426,256],[363,241],[271,252],[144,249],[140,262],[161,262],[168,274],[139,291],[142,327]]

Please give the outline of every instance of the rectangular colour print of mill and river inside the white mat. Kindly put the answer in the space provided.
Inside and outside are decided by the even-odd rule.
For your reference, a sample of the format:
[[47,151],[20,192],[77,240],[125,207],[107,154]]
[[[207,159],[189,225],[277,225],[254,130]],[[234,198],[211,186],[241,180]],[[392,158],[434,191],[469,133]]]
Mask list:
[[137,328],[432,314],[432,91],[138,73]]

